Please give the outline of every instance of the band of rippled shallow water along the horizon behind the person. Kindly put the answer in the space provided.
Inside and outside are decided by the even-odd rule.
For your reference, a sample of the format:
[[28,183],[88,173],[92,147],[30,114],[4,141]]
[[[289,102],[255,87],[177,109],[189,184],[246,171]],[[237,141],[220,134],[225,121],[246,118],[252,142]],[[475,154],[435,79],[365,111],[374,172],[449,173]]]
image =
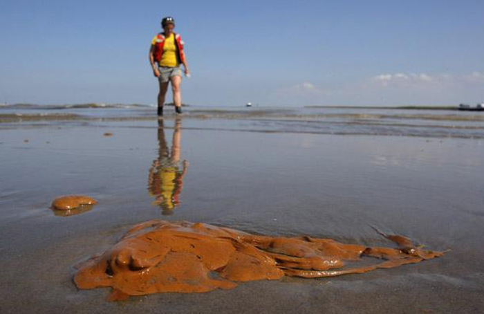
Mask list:
[[[153,121],[156,119],[153,116],[154,111],[153,107],[142,105],[95,108],[73,107],[73,105],[3,106],[0,107],[0,128],[12,127],[12,124],[19,122],[24,125],[40,125],[53,121],[62,124],[65,122],[79,124],[102,121]],[[173,114],[171,111],[174,110],[172,108],[165,110],[168,116]],[[484,111],[345,107],[188,107],[184,112],[185,120],[212,120],[211,124],[192,123],[196,127],[205,129],[484,138]]]

